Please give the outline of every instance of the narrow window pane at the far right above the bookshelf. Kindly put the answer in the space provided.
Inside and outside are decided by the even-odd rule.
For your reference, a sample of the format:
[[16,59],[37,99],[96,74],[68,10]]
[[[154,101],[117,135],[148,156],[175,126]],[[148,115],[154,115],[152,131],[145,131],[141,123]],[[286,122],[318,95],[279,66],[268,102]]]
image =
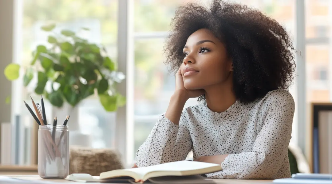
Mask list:
[[[328,39],[331,38],[331,18],[332,14],[327,9],[331,9],[331,1],[306,0],[306,30],[315,27],[315,34],[310,31],[306,33],[307,44],[305,46],[306,55],[306,102],[330,102],[332,100],[331,77],[329,71],[332,67],[331,48],[332,44]],[[315,6],[309,6],[317,4]],[[309,12],[319,12],[310,14]],[[318,21],[315,19],[329,20]],[[320,39],[321,38],[321,39]],[[323,38],[323,39],[322,39]],[[310,40],[310,42],[308,42]]]

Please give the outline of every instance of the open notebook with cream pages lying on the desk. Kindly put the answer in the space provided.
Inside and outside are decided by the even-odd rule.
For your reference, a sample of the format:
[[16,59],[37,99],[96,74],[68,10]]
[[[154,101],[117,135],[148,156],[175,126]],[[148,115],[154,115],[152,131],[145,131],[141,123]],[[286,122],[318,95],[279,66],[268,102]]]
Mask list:
[[[200,175],[221,171],[222,166],[215,163],[206,163],[198,161],[175,161],[152,165],[147,167],[138,167],[130,169],[117,169],[100,173],[99,177],[90,177],[82,174],[71,174],[68,180],[86,182],[100,182],[108,179],[133,178],[135,182],[144,182],[150,178],[162,176],[189,176]],[[85,178],[81,177],[85,176]],[[90,178],[90,179],[89,179]]]

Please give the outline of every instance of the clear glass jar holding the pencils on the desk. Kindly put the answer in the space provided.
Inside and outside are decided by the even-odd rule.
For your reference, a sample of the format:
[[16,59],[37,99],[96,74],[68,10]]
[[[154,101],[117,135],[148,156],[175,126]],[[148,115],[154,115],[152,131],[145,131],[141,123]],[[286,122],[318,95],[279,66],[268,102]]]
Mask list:
[[38,174],[41,178],[64,179],[69,173],[67,126],[39,126]]

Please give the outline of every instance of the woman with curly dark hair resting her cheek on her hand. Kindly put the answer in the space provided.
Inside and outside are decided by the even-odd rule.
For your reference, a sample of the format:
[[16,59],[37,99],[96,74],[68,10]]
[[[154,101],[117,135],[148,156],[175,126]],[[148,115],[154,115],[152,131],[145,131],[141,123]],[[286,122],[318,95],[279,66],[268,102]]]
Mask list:
[[[290,177],[294,100],[292,42],[258,10],[214,0],[180,7],[166,44],[176,89],[136,154],[135,166],[185,160],[218,163],[211,178]],[[189,98],[197,106],[183,110]],[[183,111],[182,111],[183,110]]]

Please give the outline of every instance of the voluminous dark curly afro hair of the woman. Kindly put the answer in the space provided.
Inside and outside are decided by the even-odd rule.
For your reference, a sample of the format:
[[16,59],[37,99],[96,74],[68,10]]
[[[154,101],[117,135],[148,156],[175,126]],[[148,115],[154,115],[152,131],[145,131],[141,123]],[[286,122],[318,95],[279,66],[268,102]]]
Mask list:
[[[171,70],[183,62],[188,37],[209,29],[225,45],[233,63],[233,89],[241,102],[252,102],[275,89],[287,90],[295,62],[291,39],[285,28],[257,9],[213,0],[210,8],[194,3],[179,7],[172,19],[165,53]],[[199,101],[205,96],[199,97]]]

